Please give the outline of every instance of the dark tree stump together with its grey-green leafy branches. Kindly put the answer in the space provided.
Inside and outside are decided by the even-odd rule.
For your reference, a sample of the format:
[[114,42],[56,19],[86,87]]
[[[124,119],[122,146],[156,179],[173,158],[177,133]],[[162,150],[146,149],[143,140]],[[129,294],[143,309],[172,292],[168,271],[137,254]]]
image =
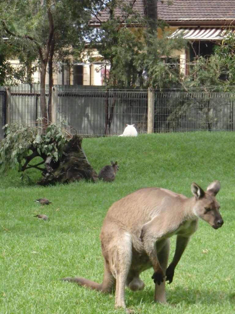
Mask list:
[[62,125],[46,127],[5,125],[6,137],[0,142],[0,173],[18,165],[18,171],[35,168],[44,176],[38,183],[65,183],[89,179],[96,181],[81,148],[82,139]]

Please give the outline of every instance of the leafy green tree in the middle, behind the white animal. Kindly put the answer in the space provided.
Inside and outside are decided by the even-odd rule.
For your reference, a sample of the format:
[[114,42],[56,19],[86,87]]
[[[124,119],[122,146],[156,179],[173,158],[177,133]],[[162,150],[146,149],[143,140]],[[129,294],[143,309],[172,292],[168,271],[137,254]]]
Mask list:
[[[143,12],[135,8],[136,0],[110,0],[89,11],[93,15],[91,25],[98,24],[99,27],[89,36],[88,54],[92,62],[92,52],[96,49],[110,65],[106,78],[107,93],[110,87],[141,88],[145,84],[145,87],[160,88],[176,81],[176,75],[163,63],[162,56],[170,56],[173,49],[184,44],[182,40],[169,40],[166,36],[163,40],[157,39],[157,27],[166,26],[157,19],[157,0],[143,3]],[[114,92],[112,104],[105,101],[106,134],[110,133],[115,103]]]

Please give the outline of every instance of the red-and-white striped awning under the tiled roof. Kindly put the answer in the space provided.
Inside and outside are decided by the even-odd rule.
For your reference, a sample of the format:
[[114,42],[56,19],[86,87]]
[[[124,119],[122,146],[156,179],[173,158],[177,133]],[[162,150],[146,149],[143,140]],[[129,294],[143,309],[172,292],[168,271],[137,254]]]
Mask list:
[[218,40],[222,39],[227,32],[224,28],[179,28],[170,37],[183,35],[183,38],[188,40]]

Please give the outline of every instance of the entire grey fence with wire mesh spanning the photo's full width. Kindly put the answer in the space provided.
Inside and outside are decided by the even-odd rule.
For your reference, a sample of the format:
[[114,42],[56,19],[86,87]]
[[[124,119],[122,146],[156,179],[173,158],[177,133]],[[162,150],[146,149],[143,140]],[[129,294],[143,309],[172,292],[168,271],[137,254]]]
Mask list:
[[[52,107],[56,111],[54,122],[66,122],[74,133],[81,136],[120,135],[126,124],[134,124],[138,133],[147,133],[147,89],[57,86],[56,92],[57,97],[54,100],[52,97]],[[3,97],[4,92],[1,93]],[[14,87],[10,98],[10,122],[35,125],[41,116],[40,86],[31,91]],[[154,132],[234,131],[234,100],[232,93],[155,91]],[[1,112],[6,110],[3,103],[0,95]],[[3,120],[2,114],[2,125]]]

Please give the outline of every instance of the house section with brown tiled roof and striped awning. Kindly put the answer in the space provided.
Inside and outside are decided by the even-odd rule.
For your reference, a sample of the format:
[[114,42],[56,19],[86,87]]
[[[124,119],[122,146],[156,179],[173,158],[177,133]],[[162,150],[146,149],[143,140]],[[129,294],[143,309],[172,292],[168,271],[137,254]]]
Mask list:
[[[209,56],[213,47],[222,40],[225,31],[235,26],[235,1],[171,0],[170,2],[169,5],[167,0],[157,1],[158,18],[169,25],[167,31],[172,37],[181,34],[188,40],[186,48],[175,51],[180,71],[187,75],[189,63],[200,56]],[[143,15],[143,0],[136,0],[133,9]],[[117,9],[115,14],[121,15],[120,9]],[[109,13],[106,10],[100,12],[101,23],[108,18]],[[91,24],[99,27],[99,21],[93,19]],[[158,36],[162,36],[161,29],[158,30]]]

